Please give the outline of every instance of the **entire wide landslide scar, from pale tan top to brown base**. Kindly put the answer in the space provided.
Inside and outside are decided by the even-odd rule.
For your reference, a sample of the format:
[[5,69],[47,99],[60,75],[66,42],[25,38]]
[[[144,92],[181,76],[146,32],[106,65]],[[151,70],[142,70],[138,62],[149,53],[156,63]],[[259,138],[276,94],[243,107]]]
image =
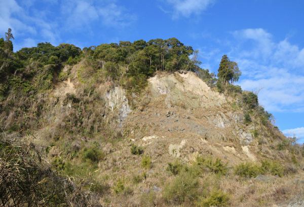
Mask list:
[[[149,102],[143,110],[126,113],[123,125],[130,131],[129,140],[145,146],[146,153],[184,161],[198,154],[232,163],[257,160],[252,127],[244,125],[243,111],[233,109],[232,100],[210,89],[195,73],[161,73],[148,81]],[[123,102],[121,96],[119,89],[109,92],[109,106],[114,109]]]

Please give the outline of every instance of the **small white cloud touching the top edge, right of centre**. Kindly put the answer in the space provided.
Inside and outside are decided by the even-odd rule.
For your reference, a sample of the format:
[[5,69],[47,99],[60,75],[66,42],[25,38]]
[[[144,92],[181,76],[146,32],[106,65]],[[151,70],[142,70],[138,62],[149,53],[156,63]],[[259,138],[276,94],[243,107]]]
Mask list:
[[173,7],[172,17],[178,18],[199,15],[211,6],[215,0],[166,0]]

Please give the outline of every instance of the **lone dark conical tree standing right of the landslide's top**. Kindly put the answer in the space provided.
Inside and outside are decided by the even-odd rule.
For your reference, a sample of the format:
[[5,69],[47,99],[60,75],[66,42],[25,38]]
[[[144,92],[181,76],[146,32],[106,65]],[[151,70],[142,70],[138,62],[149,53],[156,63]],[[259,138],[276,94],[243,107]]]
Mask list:
[[238,63],[231,61],[227,55],[223,55],[218,67],[218,78],[223,84],[237,82],[241,76]]

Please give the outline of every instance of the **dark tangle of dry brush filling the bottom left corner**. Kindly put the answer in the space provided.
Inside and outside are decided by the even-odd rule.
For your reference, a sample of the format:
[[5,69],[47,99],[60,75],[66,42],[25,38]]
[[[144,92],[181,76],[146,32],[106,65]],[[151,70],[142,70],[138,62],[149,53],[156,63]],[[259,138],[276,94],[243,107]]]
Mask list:
[[[11,137],[10,137],[11,139]],[[18,140],[18,139],[15,139]],[[20,140],[20,139],[19,139]],[[0,134],[0,192],[4,206],[93,206],[95,195],[72,179],[58,175],[33,143],[7,141]],[[94,206],[100,206],[95,203]]]

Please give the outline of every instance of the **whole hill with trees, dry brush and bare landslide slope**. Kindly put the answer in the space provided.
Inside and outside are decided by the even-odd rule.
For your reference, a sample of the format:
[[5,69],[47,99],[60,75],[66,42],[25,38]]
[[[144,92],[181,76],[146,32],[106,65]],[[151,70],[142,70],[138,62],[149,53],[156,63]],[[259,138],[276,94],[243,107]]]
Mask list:
[[304,148],[176,38],[0,39],[3,206],[301,206]]

